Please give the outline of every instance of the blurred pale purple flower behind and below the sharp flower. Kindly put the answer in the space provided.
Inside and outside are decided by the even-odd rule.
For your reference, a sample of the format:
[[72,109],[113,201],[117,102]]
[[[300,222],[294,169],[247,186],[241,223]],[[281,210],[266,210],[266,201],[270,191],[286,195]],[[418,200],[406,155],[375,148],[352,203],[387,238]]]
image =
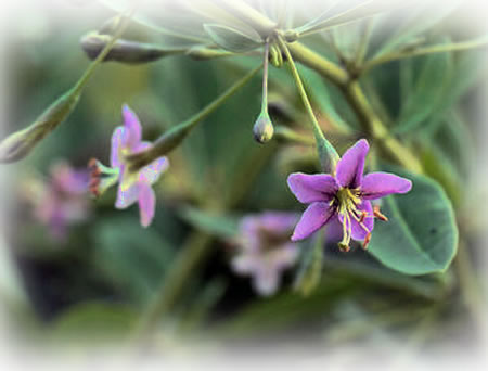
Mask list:
[[232,260],[235,272],[252,276],[254,289],[264,296],[280,286],[283,270],[298,257],[298,246],[290,241],[298,216],[267,212],[242,219],[237,243],[240,253]]

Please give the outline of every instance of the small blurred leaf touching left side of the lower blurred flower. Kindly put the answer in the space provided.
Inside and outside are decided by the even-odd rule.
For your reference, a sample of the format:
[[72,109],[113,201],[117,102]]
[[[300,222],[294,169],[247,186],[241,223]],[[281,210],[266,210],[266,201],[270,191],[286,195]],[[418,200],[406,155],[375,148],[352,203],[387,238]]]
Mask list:
[[182,208],[180,216],[194,228],[222,239],[233,238],[239,232],[240,219],[237,217],[211,215],[190,206]]

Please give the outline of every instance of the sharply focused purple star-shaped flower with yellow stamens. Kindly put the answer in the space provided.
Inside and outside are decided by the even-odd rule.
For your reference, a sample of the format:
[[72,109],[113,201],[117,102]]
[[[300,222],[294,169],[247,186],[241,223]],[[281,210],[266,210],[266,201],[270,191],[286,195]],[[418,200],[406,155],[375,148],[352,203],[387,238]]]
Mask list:
[[[299,202],[309,204],[295,227],[292,241],[308,238],[325,225],[342,228],[339,247],[349,250],[350,240],[368,245],[374,218],[386,220],[371,200],[391,193],[407,193],[412,188],[408,179],[388,172],[372,172],[363,177],[368,141],[361,139],[338,161],[335,175],[295,172],[288,177],[288,187]],[[335,231],[331,231],[334,233]]]

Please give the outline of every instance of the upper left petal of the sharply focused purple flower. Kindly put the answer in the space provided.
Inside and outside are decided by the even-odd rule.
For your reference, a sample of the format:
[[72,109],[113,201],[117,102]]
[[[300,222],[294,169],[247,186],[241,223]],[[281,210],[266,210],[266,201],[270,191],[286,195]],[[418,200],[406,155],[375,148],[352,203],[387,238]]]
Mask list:
[[328,174],[294,172],[288,176],[288,187],[304,204],[318,201],[331,201],[337,192],[337,182]]

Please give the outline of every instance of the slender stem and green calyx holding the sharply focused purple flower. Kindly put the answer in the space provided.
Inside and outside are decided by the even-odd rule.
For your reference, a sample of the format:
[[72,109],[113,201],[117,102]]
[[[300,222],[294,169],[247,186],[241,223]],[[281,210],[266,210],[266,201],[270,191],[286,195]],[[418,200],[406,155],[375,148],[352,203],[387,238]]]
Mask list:
[[320,163],[322,164],[322,166],[324,164],[330,164],[330,166],[328,166],[328,167],[330,167],[330,169],[328,169],[328,170],[331,170],[332,172],[334,172],[335,166],[339,159],[339,155],[337,154],[337,151],[335,150],[335,148],[325,138],[322,129],[320,128],[319,121],[317,120],[316,114],[313,113],[313,108],[307,97],[307,92],[305,91],[305,87],[304,87],[304,84],[301,82],[300,75],[298,73],[298,69],[296,68],[295,62],[293,61],[292,54],[290,53],[286,42],[281,37],[278,38],[278,42],[286,55],[288,64],[292,68],[292,74],[295,79],[295,84],[296,84],[296,86],[298,88],[298,92],[301,97],[301,101],[305,105],[308,116],[310,117],[310,120],[312,124],[312,129],[313,129],[313,135],[316,137],[317,149],[319,151]]

